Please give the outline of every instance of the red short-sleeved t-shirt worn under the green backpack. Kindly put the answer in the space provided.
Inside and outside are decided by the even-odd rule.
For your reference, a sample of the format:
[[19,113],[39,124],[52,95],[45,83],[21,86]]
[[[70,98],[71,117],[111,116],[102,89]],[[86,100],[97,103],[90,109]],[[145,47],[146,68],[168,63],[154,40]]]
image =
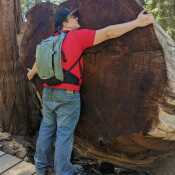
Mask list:
[[[70,31],[62,45],[62,51],[64,53],[64,59],[62,59],[62,65],[65,70],[69,69],[78,58],[81,57],[85,49],[92,47],[95,39],[95,30],[91,29],[77,29]],[[82,84],[81,69],[83,68],[83,59],[80,61],[81,67],[77,64],[71,73],[80,79],[79,85],[61,83],[54,86],[44,84],[44,87],[66,89],[71,91],[79,91]]]

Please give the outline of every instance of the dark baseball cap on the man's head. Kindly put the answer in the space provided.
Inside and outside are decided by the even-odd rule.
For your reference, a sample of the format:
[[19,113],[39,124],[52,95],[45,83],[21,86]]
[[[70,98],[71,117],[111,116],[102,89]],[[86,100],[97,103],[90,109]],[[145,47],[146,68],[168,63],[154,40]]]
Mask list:
[[69,16],[79,16],[78,8],[70,10],[68,8],[59,9],[55,14],[55,28],[58,28]]

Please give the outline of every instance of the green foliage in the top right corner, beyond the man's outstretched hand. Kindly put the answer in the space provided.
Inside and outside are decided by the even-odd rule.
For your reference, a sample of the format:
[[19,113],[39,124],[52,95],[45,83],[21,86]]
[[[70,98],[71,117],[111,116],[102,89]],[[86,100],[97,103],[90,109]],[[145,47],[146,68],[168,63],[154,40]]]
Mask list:
[[146,0],[146,9],[175,40],[175,0]]

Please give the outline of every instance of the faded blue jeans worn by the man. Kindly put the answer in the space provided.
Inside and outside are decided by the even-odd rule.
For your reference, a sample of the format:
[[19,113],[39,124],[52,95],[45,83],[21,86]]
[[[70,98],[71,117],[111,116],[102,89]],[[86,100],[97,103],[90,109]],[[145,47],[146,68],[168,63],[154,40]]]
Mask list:
[[43,119],[34,156],[37,175],[45,175],[52,164],[56,175],[73,175],[71,164],[74,131],[80,116],[80,94],[53,88],[43,90]]

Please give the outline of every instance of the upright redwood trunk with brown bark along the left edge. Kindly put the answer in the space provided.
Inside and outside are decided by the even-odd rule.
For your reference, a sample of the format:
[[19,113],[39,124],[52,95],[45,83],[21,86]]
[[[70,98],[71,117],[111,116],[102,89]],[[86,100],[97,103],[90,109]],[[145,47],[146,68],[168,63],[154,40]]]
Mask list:
[[19,4],[19,0],[0,1],[0,129],[28,134],[33,127],[33,108],[29,105],[26,73],[18,54]]

